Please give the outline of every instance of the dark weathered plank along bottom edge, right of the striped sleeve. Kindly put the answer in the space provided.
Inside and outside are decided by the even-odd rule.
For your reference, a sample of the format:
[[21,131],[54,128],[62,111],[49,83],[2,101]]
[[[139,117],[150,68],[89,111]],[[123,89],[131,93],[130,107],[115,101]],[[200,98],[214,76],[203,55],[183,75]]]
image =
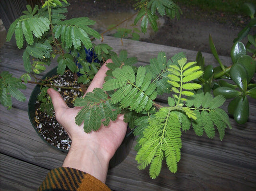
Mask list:
[[163,164],[158,178],[152,180],[148,176],[148,168],[146,170],[134,168],[135,154],[132,149],[120,165],[109,170],[106,183],[110,188],[122,191],[254,191],[256,188],[255,169],[223,164],[222,161],[187,153],[182,153],[176,174],[169,172]]

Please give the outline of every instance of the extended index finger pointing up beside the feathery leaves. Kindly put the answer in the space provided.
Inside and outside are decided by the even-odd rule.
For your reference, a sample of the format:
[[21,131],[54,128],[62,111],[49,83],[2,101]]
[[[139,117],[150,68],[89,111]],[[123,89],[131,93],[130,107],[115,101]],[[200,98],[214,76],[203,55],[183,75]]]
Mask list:
[[106,66],[107,63],[112,62],[111,59],[108,59],[103,65],[102,67],[98,70],[97,74],[95,75],[95,77],[93,78],[90,86],[88,87],[88,89],[86,90],[87,92],[92,92],[92,90],[94,90],[95,88],[102,88],[102,85],[104,83],[104,78],[106,76],[106,71],[109,70],[109,68]]

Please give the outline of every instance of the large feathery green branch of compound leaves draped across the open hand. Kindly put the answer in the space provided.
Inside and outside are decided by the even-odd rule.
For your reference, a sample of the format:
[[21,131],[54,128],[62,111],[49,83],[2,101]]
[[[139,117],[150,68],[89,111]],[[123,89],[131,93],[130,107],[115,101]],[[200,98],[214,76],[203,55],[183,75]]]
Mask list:
[[[125,51],[113,56],[112,60],[103,89],[97,88],[84,98],[76,99],[75,106],[83,107],[76,116],[76,124],[84,123],[85,132],[89,133],[97,131],[101,124],[107,126],[110,120],[116,120],[117,114],[124,113],[124,121],[138,136],[135,146],[138,168],[150,166],[151,178],[159,175],[162,160],[171,172],[177,171],[182,130],[188,131],[192,125],[196,135],[205,132],[212,139],[216,128],[222,140],[226,126],[231,127],[227,113],[219,108],[224,97],[213,98],[210,93],[198,90],[201,85],[193,80],[203,72],[195,62],[186,62],[182,53],[167,60],[166,54],[159,52],[146,67],[133,67],[131,62],[126,65],[129,59]],[[155,102],[157,95],[162,93],[158,91],[161,87],[158,83],[167,83],[171,87],[169,92],[174,91],[168,98],[169,106]],[[195,90],[198,91],[195,93]]]

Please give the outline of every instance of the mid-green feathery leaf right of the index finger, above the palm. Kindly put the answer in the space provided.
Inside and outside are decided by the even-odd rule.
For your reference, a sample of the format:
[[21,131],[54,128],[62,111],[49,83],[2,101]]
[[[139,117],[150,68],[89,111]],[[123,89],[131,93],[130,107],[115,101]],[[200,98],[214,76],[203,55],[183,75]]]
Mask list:
[[103,84],[103,90],[116,90],[111,95],[113,104],[120,103],[122,108],[129,107],[136,112],[151,109],[157,92],[150,74],[146,74],[146,68],[139,67],[135,74],[131,66],[118,67],[112,75],[114,78]]

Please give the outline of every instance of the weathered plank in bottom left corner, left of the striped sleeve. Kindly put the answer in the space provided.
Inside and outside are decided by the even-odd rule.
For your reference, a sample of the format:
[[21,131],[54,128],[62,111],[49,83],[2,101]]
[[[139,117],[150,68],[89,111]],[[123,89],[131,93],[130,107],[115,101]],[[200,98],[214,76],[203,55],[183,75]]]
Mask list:
[[0,154],[0,189],[2,191],[36,191],[48,169]]

